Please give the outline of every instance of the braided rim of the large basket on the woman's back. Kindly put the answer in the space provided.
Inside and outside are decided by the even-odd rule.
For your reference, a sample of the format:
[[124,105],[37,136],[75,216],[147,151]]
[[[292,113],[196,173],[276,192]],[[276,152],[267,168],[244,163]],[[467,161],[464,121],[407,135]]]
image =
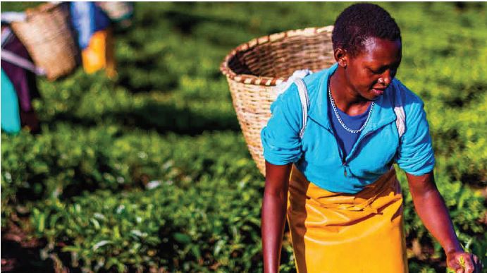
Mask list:
[[278,85],[280,83],[285,82],[288,80],[287,78],[279,78],[279,77],[266,77],[266,76],[256,76],[250,74],[237,74],[235,73],[230,67],[228,66],[228,62],[232,59],[238,52],[246,51],[252,47],[256,47],[259,44],[266,44],[269,42],[276,42],[285,39],[286,37],[295,37],[295,36],[313,36],[319,34],[321,32],[332,32],[333,25],[327,25],[325,27],[313,27],[313,28],[300,28],[297,30],[287,30],[284,32],[273,33],[271,35],[265,35],[258,38],[254,38],[249,42],[245,42],[240,44],[238,47],[235,47],[230,53],[225,57],[223,63],[221,63],[220,71],[223,75],[230,80],[234,80],[237,83],[245,83],[250,85],[264,85],[264,86],[273,86]]

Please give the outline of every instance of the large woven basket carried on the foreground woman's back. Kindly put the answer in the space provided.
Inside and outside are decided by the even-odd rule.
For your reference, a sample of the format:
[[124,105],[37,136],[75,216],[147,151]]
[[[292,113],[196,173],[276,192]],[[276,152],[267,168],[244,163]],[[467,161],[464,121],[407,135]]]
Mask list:
[[241,44],[221,64],[245,142],[264,176],[260,133],[271,118],[275,87],[296,70],[319,71],[335,63],[332,30],[333,26],[306,28],[260,37]]

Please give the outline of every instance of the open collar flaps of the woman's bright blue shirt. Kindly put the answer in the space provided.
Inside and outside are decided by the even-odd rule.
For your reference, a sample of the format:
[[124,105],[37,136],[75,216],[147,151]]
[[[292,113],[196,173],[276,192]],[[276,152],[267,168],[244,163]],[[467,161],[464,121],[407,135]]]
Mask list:
[[[330,119],[328,118],[328,78],[338,68],[338,63],[333,64],[319,78],[316,92],[310,95],[309,118],[331,131]],[[390,101],[393,95],[394,86],[392,83],[381,97],[375,101],[369,123],[364,128],[364,133],[374,131],[382,126],[395,121],[394,107]]]

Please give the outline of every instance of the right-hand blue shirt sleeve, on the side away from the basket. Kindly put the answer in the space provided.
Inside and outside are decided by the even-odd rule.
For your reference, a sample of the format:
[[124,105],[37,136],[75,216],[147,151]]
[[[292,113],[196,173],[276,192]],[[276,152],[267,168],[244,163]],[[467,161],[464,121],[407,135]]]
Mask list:
[[403,107],[406,115],[406,131],[402,135],[396,162],[408,174],[421,176],[433,171],[435,156],[424,102],[402,85]]

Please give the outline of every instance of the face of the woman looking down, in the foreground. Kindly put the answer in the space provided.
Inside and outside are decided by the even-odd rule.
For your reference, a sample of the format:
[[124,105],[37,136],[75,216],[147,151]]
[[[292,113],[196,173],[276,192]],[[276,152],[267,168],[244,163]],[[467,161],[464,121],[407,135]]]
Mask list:
[[371,37],[357,56],[347,56],[345,77],[361,97],[375,100],[392,82],[401,58],[400,40]]

